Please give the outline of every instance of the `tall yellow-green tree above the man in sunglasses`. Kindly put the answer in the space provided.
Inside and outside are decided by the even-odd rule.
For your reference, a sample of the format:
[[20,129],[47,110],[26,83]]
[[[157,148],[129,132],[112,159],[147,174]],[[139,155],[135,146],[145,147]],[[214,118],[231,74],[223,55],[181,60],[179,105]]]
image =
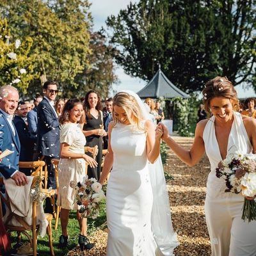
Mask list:
[[35,60],[41,84],[54,79],[63,90],[77,86],[74,78],[88,65],[90,52],[89,6],[87,0],[27,0],[20,4],[4,0],[0,4],[0,13],[14,35],[33,38],[29,56]]

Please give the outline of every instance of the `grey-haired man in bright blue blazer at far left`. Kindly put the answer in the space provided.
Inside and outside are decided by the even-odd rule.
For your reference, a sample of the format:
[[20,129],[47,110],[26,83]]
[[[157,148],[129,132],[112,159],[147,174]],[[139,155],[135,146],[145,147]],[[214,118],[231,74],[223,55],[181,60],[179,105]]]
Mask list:
[[26,175],[19,172],[20,141],[12,119],[19,102],[19,93],[13,86],[0,88],[0,150],[13,153],[2,159],[0,172],[6,179],[13,179],[17,186],[28,184]]

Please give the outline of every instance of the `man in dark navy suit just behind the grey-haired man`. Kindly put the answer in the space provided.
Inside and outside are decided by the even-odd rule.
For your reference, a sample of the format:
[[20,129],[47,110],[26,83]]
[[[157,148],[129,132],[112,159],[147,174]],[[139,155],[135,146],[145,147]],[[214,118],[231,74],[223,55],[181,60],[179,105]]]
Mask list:
[[[20,140],[19,161],[33,161],[36,136],[33,136],[29,132],[27,115],[28,105],[25,102],[20,101],[13,119],[13,124],[15,125]],[[27,176],[29,176],[31,175],[31,168],[20,168],[20,172],[24,172]]]

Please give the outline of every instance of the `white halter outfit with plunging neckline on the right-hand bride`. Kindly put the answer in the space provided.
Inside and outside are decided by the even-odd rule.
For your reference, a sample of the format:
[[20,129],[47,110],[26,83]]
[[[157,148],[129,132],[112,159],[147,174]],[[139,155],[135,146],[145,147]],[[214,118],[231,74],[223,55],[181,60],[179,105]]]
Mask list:
[[[220,148],[216,139],[215,117],[205,125],[205,152],[211,163],[207,179],[205,198],[205,220],[211,239],[212,256],[255,256],[256,221],[243,221],[244,197],[240,194],[225,193],[225,180],[216,177],[216,168],[221,161]],[[240,113],[234,112],[234,122],[228,137],[227,154],[239,150],[252,152],[252,145]]]

